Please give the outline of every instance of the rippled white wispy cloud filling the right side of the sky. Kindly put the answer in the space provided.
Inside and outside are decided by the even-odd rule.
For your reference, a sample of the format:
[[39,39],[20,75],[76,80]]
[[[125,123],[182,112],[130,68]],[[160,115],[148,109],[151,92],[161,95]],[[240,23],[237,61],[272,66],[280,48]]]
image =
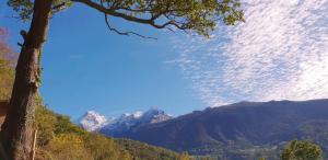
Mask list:
[[246,23],[175,37],[176,60],[211,106],[328,98],[328,1],[244,0]]

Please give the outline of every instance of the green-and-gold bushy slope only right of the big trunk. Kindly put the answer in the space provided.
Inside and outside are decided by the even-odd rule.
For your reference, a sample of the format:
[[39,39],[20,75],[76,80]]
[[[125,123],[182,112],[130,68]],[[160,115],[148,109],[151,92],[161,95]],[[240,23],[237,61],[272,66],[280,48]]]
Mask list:
[[189,159],[167,149],[143,142],[107,138],[72,124],[68,116],[43,105],[36,110],[37,159],[60,160],[179,160]]

